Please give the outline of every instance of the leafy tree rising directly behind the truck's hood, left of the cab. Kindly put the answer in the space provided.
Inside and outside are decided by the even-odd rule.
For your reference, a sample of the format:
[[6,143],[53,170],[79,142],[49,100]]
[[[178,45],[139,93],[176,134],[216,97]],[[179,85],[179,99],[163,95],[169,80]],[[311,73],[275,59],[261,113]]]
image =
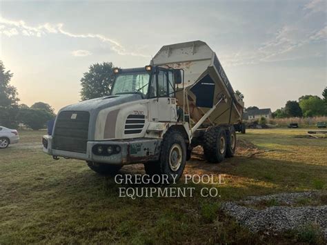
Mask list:
[[109,95],[114,80],[111,62],[95,63],[81,78],[81,99],[94,99]]

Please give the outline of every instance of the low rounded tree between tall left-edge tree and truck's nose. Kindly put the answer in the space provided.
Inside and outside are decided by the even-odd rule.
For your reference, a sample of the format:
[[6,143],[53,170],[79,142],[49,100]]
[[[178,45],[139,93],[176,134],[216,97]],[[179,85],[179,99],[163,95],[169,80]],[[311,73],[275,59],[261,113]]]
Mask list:
[[53,115],[46,110],[33,108],[21,108],[19,110],[19,121],[32,130],[46,128],[46,122],[53,118]]

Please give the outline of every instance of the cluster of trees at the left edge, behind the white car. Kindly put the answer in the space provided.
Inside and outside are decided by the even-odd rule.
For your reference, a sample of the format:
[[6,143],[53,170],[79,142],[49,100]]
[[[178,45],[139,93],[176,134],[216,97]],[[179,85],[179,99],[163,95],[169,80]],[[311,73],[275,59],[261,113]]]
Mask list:
[[43,102],[30,107],[18,104],[17,88],[10,85],[12,76],[0,61],[0,126],[17,128],[19,124],[25,124],[33,130],[45,128],[46,122],[55,117],[53,108]]

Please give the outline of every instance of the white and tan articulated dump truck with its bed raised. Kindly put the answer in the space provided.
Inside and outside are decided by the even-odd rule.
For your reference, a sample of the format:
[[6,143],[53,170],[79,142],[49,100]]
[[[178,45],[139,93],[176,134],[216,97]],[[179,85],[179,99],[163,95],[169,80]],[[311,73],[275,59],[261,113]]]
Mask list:
[[232,157],[244,103],[203,41],[163,46],[142,68],[115,68],[110,95],[62,108],[43,151],[115,175],[143,163],[148,175],[181,177],[192,148]]

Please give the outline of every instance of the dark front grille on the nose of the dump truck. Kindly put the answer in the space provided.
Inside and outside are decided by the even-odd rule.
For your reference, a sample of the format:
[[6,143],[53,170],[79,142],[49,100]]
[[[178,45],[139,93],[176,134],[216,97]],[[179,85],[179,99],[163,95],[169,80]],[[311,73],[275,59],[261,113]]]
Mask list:
[[89,121],[89,112],[60,112],[54,128],[52,148],[55,150],[86,153]]

